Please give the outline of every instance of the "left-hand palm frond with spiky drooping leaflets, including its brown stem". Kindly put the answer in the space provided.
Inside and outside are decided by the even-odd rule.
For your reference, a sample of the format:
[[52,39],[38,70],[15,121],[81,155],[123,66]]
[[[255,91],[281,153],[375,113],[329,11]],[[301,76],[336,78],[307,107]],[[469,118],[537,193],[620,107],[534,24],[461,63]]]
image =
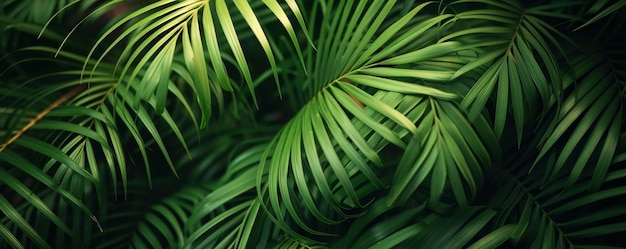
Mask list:
[[[54,50],[46,47],[33,47],[27,50],[45,53],[54,53]],[[104,153],[104,156],[109,164],[109,169],[112,177],[116,178],[116,166],[119,169],[122,176],[122,183],[126,182],[126,160],[121,139],[119,137],[118,121],[124,124],[124,127],[130,131],[135,142],[138,145],[139,151],[144,159],[146,171],[150,175],[150,167],[148,162],[148,156],[146,153],[147,142],[144,139],[145,135],[141,132],[143,129],[148,131],[150,138],[156,143],[160,151],[163,153],[166,162],[170,165],[174,171],[173,163],[169,157],[169,153],[165,144],[162,141],[161,132],[158,130],[154,117],[151,111],[158,106],[155,94],[146,95],[146,105],[137,106],[136,109],[131,108],[132,100],[138,94],[143,94],[136,88],[127,88],[123,83],[117,83],[116,78],[111,77],[111,72],[106,69],[112,69],[111,66],[105,66],[101,63],[100,68],[103,71],[94,71],[92,77],[88,82],[80,80],[81,71],[80,64],[85,60],[84,57],[80,57],[75,54],[61,52],[60,55],[65,59],[65,63],[69,66],[77,68],[75,70],[65,70],[60,72],[54,72],[51,74],[42,75],[29,79],[22,83],[22,88],[28,88],[35,86],[36,83],[42,81],[58,81],[59,87],[56,88],[44,88],[44,96],[52,95],[57,91],[66,91],[67,93],[59,97],[55,102],[50,104],[46,109],[39,112],[39,116],[35,116],[31,119],[30,123],[20,127],[20,130],[15,132],[15,138],[28,131],[28,130],[50,130],[54,134],[48,135],[52,147],[60,149],[61,154],[69,155],[75,162],[79,162],[83,167],[92,167],[91,173],[94,177],[99,175],[98,169],[93,168],[95,165],[93,162],[96,160],[94,157],[94,150],[86,148],[93,148],[92,142],[96,142],[99,145],[99,149]],[[92,64],[93,65],[93,64]],[[168,80],[168,82],[171,82]],[[63,90],[64,87],[73,87],[71,90]],[[16,89],[7,91],[7,95],[2,98],[10,97],[10,94],[17,94]],[[191,114],[192,110],[187,100],[181,95],[180,89],[174,84],[168,84],[165,89],[165,93],[170,93],[176,97],[176,99],[188,110]],[[71,94],[68,95],[68,94]],[[74,97],[74,95],[76,95]],[[20,101],[31,102],[30,99],[35,98],[32,95],[18,95]],[[70,101],[71,100],[71,101]],[[67,106],[58,107],[62,102],[69,101]],[[165,100],[163,100],[165,101]],[[57,108],[58,107],[58,108]],[[53,120],[41,120],[44,115],[49,115]],[[192,114],[191,114],[192,115]],[[77,117],[78,116],[78,117]],[[183,140],[178,124],[174,122],[167,110],[164,110],[159,115],[165,122],[166,127],[176,135],[176,137],[183,143],[183,147],[186,148],[186,144]],[[46,116],[48,117],[48,116]],[[69,117],[69,119],[67,119]],[[23,118],[22,118],[23,119]],[[137,122],[139,121],[139,122]],[[141,126],[138,126],[140,124]],[[32,127],[31,127],[32,126]],[[14,126],[19,127],[19,126]],[[6,136],[6,135],[5,135]],[[15,140],[16,143],[23,143]],[[4,146],[8,146],[13,143],[12,140],[8,140],[4,143]],[[50,148],[53,151],[52,148]],[[52,155],[52,154],[50,154]],[[56,160],[59,160],[58,158]],[[74,165],[71,160],[64,159],[60,161],[63,164]],[[54,161],[50,161],[46,166],[52,167]],[[91,165],[91,166],[89,166]],[[81,172],[81,171],[77,171]],[[84,177],[87,175],[83,175]],[[87,178],[90,179],[90,178]],[[95,182],[95,181],[92,181]]]

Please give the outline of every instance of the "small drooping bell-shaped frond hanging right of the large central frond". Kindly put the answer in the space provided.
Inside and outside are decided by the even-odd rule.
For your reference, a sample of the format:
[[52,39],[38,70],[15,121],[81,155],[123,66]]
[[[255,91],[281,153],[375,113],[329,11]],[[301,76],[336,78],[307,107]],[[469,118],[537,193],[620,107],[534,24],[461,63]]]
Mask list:
[[405,203],[418,187],[430,183],[430,202],[440,201],[450,189],[457,203],[467,206],[497,157],[495,135],[479,131],[478,127],[487,125],[482,117],[474,126],[449,102],[430,98],[418,106],[424,115],[417,120],[417,133],[398,163],[388,202]]

